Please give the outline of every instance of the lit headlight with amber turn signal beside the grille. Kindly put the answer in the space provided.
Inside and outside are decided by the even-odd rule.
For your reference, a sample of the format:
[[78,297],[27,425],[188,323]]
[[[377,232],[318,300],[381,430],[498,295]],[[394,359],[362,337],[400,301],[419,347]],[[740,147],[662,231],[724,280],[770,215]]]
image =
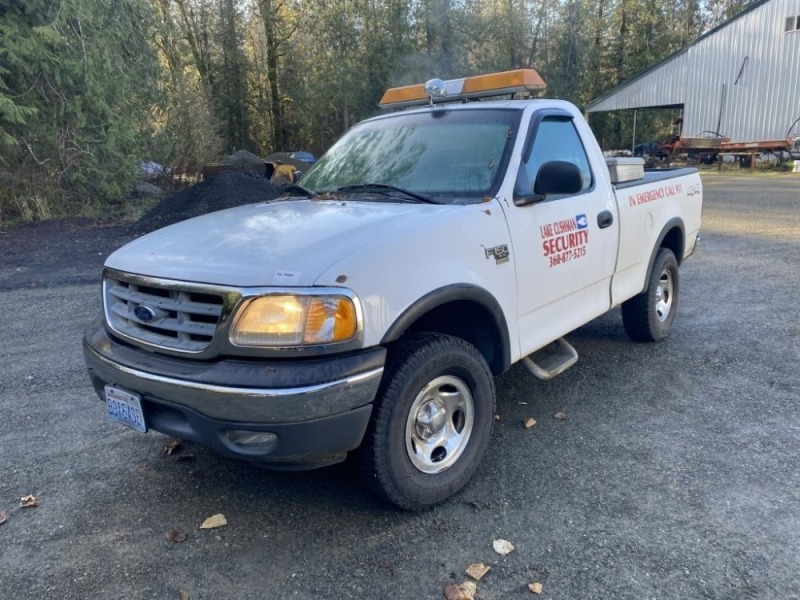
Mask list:
[[352,339],[355,303],[347,296],[261,296],[240,309],[231,328],[237,346],[303,346]]

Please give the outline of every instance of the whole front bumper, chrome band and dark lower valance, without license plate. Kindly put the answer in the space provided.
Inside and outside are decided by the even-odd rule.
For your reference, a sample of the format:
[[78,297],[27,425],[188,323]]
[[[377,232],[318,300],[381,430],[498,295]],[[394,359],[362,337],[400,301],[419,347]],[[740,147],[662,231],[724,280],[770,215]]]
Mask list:
[[[340,462],[358,447],[386,356],[372,348],[300,360],[186,360],[121,342],[101,322],[86,330],[83,351],[98,395],[107,384],[139,394],[151,429],[282,469]],[[228,430],[274,433],[277,443],[250,448]]]

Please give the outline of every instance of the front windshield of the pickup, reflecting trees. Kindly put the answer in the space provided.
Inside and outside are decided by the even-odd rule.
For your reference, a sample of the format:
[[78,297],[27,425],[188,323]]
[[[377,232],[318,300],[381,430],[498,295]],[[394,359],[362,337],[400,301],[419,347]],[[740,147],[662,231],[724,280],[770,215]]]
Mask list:
[[336,142],[301,183],[320,193],[372,183],[426,196],[480,198],[498,183],[520,114],[436,109],[367,121]]

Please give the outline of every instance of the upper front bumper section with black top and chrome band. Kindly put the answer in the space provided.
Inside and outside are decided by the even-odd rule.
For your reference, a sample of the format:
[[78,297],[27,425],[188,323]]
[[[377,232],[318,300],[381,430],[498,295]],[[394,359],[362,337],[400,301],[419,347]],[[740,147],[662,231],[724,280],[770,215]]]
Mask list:
[[[358,356],[307,361],[307,373],[293,363],[291,379],[298,385],[270,387],[272,381],[287,380],[280,373],[286,367],[276,361],[192,364],[121,344],[97,325],[87,330],[83,349],[93,379],[185,406],[210,419],[263,424],[319,419],[370,404],[380,385],[385,355],[382,348],[376,349],[377,354],[369,351],[360,361],[366,367],[360,372],[352,372],[358,369]],[[337,370],[349,374],[324,380]]]

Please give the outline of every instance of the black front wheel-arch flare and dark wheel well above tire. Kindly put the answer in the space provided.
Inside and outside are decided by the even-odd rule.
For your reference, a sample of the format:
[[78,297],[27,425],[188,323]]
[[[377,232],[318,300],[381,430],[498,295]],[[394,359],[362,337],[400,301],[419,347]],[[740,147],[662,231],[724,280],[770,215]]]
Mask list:
[[[480,323],[480,327],[475,324]],[[448,285],[422,296],[394,321],[381,344],[412,331],[429,331],[466,340],[486,359],[494,375],[511,365],[505,313],[487,290],[471,284]]]

